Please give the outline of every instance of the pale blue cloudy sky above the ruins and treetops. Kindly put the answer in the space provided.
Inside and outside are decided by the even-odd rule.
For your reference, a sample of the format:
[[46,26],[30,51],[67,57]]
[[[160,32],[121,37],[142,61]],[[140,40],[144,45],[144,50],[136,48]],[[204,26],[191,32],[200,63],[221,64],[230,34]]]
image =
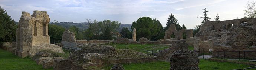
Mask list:
[[109,19],[132,24],[139,17],[156,18],[163,26],[171,13],[187,28],[200,25],[206,8],[211,21],[216,14],[220,20],[243,18],[246,3],[253,0],[0,0],[0,6],[15,19],[21,12],[47,11],[59,22],[86,22],[85,18],[102,21]]

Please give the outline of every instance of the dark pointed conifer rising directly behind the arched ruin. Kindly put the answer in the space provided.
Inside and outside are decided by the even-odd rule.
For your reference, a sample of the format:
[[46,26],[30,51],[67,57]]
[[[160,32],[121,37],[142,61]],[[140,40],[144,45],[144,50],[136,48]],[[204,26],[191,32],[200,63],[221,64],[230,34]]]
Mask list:
[[167,23],[166,23],[165,31],[167,29],[169,29],[171,24],[174,24],[176,26],[176,30],[180,30],[181,29],[181,26],[180,26],[176,16],[174,16],[173,14],[169,15],[169,18],[168,18]]

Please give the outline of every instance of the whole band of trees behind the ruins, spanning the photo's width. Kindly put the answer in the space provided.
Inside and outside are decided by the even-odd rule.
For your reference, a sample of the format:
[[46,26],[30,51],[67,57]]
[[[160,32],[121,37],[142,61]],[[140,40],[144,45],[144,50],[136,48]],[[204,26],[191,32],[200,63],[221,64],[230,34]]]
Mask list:
[[[246,10],[244,10],[244,18],[256,18],[256,2],[248,2],[246,6]],[[200,16],[198,18],[203,18],[201,25],[204,24],[205,21],[210,20],[211,18],[207,16],[207,9],[203,9],[204,16]],[[120,22],[111,21],[111,20],[103,20],[103,21],[91,21],[90,19],[86,19],[89,22],[88,29],[81,30],[76,26],[71,26],[68,29],[71,32],[76,34],[76,39],[98,39],[98,40],[113,40],[118,38],[119,34],[121,37],[127,37],[131,39],[132,32],[127,27],[123,27],[121,32],[118,32],[118,28],[120,26]],[[220,21],[219,15],[216,15],[214,21]],[[16,24],[15,24],[16,23]],[[167,19],[166,26],[163,27],[159,20],[156,18],[152,19],[150,17],[142,17],[138,18],[136,21],[132,22],[131,29],[137,29],[137,40],[141,37],[145,37],[150,39],[151,41],[156,41],[158,39],[164,38],[165,31],[170,27],[171,24],[175,24],[177,30],[186,29],[183,24],[180,26],[177,18],[171,14]],[[193,30],[193,35],[199,32],[200,26],[196,25]],[[14,19],[10,18],[7,14],[7,11],[0,7],[0,42],[12,42],[16,41],[16,29],[17,22]],[[62,39],[62,34],[65,31],[65,28],[59,25],[49,24],[49,36],[50,42],[60,42]],[[183,34],[183,38],[186,35]],[[172,38],[174,38],[172,36]]]

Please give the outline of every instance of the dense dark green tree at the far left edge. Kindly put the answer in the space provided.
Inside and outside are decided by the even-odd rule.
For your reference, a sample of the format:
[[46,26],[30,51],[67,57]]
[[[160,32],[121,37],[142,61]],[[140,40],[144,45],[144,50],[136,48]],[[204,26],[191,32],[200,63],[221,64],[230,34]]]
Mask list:
[[7,14],[6,10],[0,7],[0,42],[12,42],[16,40],[17,27],[15,25],[14,19]]

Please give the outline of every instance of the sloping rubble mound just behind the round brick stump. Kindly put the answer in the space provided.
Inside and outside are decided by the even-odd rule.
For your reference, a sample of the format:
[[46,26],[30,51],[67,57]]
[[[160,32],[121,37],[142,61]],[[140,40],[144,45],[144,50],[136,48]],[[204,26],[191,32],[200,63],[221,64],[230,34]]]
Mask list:
[[174,42],[170,46],[170,48],[161,50],[157,55],[157,59],[169,62],[172,53],[176,50],[182,50],[182,49],[187,50],[188,44],[184,40],[178,40],[178,41]]

